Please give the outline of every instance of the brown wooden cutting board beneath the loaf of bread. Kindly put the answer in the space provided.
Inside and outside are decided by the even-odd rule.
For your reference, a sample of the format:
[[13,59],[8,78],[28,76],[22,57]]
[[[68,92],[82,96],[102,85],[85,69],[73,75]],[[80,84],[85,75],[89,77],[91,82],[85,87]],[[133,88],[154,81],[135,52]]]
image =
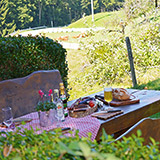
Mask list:
[[125,105],[129,105],[129,104],[135,104],[135,103],[139,103],[140,99],[134,97],[132,99],[129,100],[125,100],[125,101],[119,101],[119,100],[113,100],[110,105],[112,107],[118,107],[118,106],[125,106]]

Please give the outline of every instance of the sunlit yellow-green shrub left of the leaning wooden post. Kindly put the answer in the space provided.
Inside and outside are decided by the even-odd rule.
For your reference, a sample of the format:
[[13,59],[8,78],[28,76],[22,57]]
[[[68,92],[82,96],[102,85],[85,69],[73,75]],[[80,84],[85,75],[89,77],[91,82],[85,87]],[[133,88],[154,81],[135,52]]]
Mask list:
[[85,48],[90,64],[81,81],[89,86],[121,82],[129,74],[124,37],[114,35],[110,41],[90,41]]

